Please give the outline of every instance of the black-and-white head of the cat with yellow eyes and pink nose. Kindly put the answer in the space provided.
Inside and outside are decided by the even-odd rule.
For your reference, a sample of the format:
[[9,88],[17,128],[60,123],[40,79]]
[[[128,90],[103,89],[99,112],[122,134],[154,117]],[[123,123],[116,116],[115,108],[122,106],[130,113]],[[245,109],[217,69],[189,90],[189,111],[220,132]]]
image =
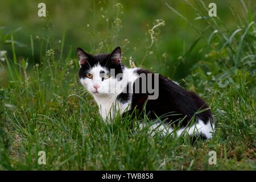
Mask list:
[[90,55],[77,48],[79,58],[79,78],[81,84],[94,96],[105,96],[115,93],[115,88],[122,84],[123,64],[121,48],[117,47],[112,53]]

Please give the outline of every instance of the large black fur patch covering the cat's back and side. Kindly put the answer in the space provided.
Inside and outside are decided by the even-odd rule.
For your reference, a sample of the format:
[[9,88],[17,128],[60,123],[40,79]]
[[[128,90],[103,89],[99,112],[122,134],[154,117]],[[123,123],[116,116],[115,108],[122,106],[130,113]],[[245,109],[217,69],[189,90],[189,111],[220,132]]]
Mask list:
[[[137,73],[140,75],[150,72],[138,69]],[[148,95],[148,93],[133,93],[131,110],[136,108],[137,113],[141,113],[143,104],[146,102],[145,109],[148,117],[151,119],[160,117],[166,123],[181,124],[181,126],[188,125],[194,115],[195,121],[197,121],[196,118],[200,118],[205,124],[212,118],[212,113],[202,98],[193,92],[188,92],[166,77],[159,75],[159,97],[156,100],[148,100]],[[207,110],[196,114],[196,111],[203,109]],[[180,123],[181,118],[184,119]]]

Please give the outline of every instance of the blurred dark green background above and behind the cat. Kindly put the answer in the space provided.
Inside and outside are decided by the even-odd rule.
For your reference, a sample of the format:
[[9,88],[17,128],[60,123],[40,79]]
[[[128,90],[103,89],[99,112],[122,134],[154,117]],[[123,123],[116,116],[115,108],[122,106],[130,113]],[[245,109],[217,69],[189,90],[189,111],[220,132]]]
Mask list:
[[[38,16],[40,2],[46,3],[46,18]],[[217,4],[219,20],[227,27],[236,28],[237,23],[230,7],[240,16],[246,16],[240,0],[204,2],[205,5],[210,2]],[[179,11],[189,23],[193,23],[197,30],[203,31],[206,27],[204,20],[198,19],[199,14],[188,5],[198,5],[199,1],[188,1],[187,4],[185,1],[170,0],[121,1],[121,4],[118,1],[1,1],[0,50],[6,50],[7,55],[11,56],[11,44],[5,42],[5,35],[13,32],[18,58],[28,58],[29,62],[32,60],[32,38],[34,60],[39,62],[40,47],[46,47],[41,40],[47,40],[49,47],[54,48],[55,52],[60,52],[64,35],[63,55],[72,53],[75,57],[77,47],[90,53],[100,53],[121,46],[125,64],[129,63],[128,60],[132,56],[135,65],[180,80],[191,73],[191,68],[197,61],[204,58],[205,51],[201,48],[207,41],[200,39],[189,51],[200,32],[177,16],[166,3]],[[249,6],[251,5],[254,5],[254,1],[249,1]],[[205,17],[209,18],[208,12],[203,10],[203,5],[199,8],[205,13]],[[156,30],[154,36],[157,40],[151,51],[148,48],[151,43],[148,30],[154,26],[156,19],[164,20],[165,25]],[[208,37],[212,31],[209,28],[205,31],[205,36]],[[187,51],[189,53],[179,59]]]

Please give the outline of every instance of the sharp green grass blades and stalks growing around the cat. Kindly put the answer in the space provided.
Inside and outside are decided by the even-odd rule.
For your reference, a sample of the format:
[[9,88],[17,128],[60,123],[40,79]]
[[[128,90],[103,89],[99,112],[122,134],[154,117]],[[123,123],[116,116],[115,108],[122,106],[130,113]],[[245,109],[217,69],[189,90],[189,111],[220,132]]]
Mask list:
[[[129,116],[105,125],[92,97],[78,81],[79,65],[72,48],[63,51],[67,32],[60,44],[41,38],[40,47],[34,47],[30,36],[32,60],[16,55],[10,34],[13,55],[1,62],[7,84],[0,91],[0,169],[255,170],[255,14],[245,5],[246,16],[234,13],[236,26],[225,27],[220,19],[203,16],[203,1],[184,3],[198,14],[205,28],[188,23],[199,36],[173,69],[180,66],[179,61],[187,63],[192,58],[199,42],[204,44],[198,52],[204,56],[180,82],[212,108],[216,121],[213,139],[191,144],[187,137],[148,137],[146,129],[138,133],[130,129]],[[170,13],[175,10],[167,5]],[[236,11],[232,6],[230,10]],[[177,18],[181,15],[177,10],[175,14]],[[104,44],[121,34],[121,27],[112,28]],[[160,36],[159,30],[153,32],[156,38]],[[148,32],[142,61],[150,59],[151,51],[158,51],[156,39],[151,45],[153,34]],[[39,60],[34,60],[36,51]],[[92,49],[96,51],[102,48]],[[171,77],[164,69],[160,73]],[[38,164],[39,151],[46,151],[46,165]],[[216,151],[216,165],[209,165],[209,151]]]

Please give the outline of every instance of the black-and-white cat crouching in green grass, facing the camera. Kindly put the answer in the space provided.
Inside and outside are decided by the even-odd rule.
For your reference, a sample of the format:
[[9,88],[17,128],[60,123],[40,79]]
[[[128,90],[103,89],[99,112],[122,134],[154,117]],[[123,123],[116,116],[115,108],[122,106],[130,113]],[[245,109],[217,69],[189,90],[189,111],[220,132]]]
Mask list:
[[[80,82],[97,102],[103,121],[112,121],[116,113],[132,115],[134,110],[139,114],[145,111],[148,118],[156,120],[149,127],[152,135],[159,132],[177,137],[188,134],[212,138],[213,116],[202,98],[164,76],[142,68],[125,67],[120,47],[98,55],[77,48],[77,56]],[[146,80],[142,75],[146,75]],[[150,79],[152,77],[156,79]],[[143,86],[143,83],[146,84]],[[150,92],[142,92],[145,85],[147,89],[151,86]],[[143,127],[145,123],[139,123],[139,128]]]

